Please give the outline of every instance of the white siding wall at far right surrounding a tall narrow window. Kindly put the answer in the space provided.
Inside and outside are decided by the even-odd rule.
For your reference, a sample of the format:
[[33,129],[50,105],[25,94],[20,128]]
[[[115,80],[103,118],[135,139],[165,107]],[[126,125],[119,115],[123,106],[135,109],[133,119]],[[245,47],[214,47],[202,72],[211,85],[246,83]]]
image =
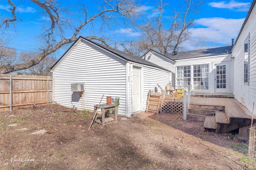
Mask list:
[[[250,111],[256,101],[256,7],[252,9],[232,49],[234,57],[234,97]],[[249,38],[249,82],[244,83],[244,41]]]

